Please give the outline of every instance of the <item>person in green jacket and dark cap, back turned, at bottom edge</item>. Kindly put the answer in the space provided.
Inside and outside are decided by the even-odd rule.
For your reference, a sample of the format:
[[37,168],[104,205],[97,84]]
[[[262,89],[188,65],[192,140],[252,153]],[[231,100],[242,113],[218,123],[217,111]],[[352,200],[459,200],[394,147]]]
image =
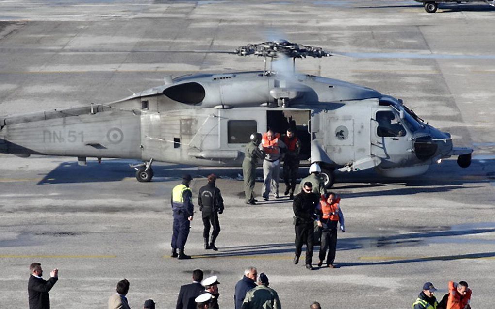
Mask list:
[[268,276],[260,273],[258,285],[247,291],[241,309],[282,309],[277,292],[269,284]]

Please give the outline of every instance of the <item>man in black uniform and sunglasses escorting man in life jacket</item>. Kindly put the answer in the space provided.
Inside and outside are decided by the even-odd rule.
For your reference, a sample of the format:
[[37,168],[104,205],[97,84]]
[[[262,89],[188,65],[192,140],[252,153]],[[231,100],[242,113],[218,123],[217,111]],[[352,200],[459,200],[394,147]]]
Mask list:
[[296,217],[294,228],[296,230],[296,256],[294,264],[299,263],[302,245],[306,244],[306,268],[312,270],[311,258],[313,257],[313,221],[316,219],[315,209],[319,203],[319,196],[312,193],[313,185],[306,181],[302,187],[302,192],[297,194],[292,205]]

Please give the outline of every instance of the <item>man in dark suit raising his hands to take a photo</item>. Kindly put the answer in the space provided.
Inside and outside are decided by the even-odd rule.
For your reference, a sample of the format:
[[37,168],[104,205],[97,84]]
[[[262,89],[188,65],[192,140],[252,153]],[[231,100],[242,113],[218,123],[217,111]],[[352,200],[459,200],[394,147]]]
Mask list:
[[43,269],[40,263],[31,263],[29,271],[31,272],[28,281],[29,309],[50,309],[48,292],[58,280],[58,269],[50,272],[48,281],[41,277]]

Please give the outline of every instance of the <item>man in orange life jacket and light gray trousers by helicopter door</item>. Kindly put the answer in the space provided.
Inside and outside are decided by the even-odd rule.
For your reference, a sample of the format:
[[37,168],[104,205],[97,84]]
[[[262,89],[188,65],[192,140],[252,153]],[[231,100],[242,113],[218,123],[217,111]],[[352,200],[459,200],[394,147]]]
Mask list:
[[287,146],[280,140],[280,133],[274,133],[269,130],[263,133],[261,139],[260,150],[266,154],[263,160],[263,200],[268,201],[270,189],[275,198],[279,197],[278,186],[280,180],[280,159],[282,158],[281,148],[286,149]]

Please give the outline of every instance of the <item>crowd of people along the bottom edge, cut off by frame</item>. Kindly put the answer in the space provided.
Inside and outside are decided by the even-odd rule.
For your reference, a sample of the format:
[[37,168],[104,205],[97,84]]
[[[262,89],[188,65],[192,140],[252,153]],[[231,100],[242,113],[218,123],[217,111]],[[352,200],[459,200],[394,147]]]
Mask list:
[[[29,309],[49,309],[49,291],[58,281],[58,269],[50,272],[50,278],[42,278],[43,269],[40,263],[29,266],[31,275],[28,281]],[[218,276],[211,275],[203,279],[203,271],[193,271],[193,282],[180,287],[176,309],[219,309],[220,292]],[[282,309],[277,292],[269,287],[270,281],[265,273],[256,267],[247,267],[244,275],[234,288],[235,309]],[[123,279],[117,283],[116,293],[108,299],[108,309],[130,309],[127,301],[130,283]],[[437,289],[431,282],[423,285],[423,290],[412,304],[413,309],[471,309],[472,291],[466,281],[448,283],[448,293],[440,302],[435,297]],[[165,308],[166,306],[163,306]],[[318,302],[313,302],[310,309],[321,309]],[[155,309],[152,299],[145,301],[143,309]]]

